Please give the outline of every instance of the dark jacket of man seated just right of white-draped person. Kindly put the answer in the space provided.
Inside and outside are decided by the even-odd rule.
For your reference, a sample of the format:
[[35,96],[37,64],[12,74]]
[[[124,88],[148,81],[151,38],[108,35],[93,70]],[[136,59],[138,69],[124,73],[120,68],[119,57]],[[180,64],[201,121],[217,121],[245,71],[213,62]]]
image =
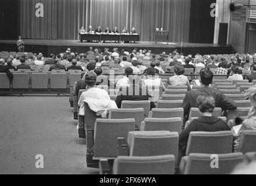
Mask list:
[[149,100],[150,101],[150,109],[155,108],[155,103],[153,102],[152,96],[149,94],[149,91],[146,88],[142,88],[141,86],[131,85],[130,87],[121,87],[117,98],[115,99],[115,103],[117,103],[117,107],[121,108],[121,103],[123,100],[128,101],[141,101],[141,100]]

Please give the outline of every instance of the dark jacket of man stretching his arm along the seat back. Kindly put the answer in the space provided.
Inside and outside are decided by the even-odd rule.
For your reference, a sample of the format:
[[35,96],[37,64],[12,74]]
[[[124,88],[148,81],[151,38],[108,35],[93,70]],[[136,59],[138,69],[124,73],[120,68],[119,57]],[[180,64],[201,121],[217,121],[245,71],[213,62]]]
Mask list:
[[215,107],[220,107],[222,110],[235,110],[237,108],[236,102],[225,96],[221,91],[214,88],[204,87],[187,92],[182,103],[184,116],[188,116],[190,108],[197,107],[197,96],[202,94],[212,96],[215,99]]

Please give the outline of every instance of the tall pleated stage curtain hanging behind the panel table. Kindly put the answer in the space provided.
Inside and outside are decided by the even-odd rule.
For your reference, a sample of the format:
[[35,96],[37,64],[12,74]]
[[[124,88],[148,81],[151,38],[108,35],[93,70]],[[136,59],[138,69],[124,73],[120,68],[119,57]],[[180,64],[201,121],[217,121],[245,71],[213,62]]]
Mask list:
[[[155,41],[155,28],[169,30],[170,42],[187,42],[191,0],[20,0],[23,38],[78,40],[81,26],[118,30],[135,27],[142,41]],[[36,3],[44,17],[36,17]]]

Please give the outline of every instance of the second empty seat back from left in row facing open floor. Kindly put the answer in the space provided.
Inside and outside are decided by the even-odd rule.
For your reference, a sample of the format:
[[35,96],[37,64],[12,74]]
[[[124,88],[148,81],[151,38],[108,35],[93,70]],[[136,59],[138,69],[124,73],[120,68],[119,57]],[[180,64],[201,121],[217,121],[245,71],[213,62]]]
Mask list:
[[13,73],[13,88],[28,89],[29,74],[28,73]]

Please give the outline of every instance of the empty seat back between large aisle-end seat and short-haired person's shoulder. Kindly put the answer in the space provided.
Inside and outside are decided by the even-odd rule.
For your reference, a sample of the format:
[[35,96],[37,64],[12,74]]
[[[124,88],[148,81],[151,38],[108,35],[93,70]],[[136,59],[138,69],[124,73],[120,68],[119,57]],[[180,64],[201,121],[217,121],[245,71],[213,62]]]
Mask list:
[[183,121],[181,117],[154,118],[148,117],[141,122],[141,131],[166,130],[181,133]]

